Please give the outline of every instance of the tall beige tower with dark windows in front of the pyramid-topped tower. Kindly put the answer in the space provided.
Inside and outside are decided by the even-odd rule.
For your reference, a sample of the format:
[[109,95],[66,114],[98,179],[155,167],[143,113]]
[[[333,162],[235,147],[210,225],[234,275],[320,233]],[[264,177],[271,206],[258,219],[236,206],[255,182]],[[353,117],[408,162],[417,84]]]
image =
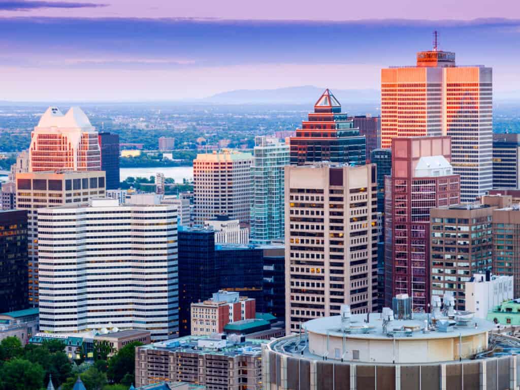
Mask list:
[[374,164],[285,167],[286,333],[300,323],[377,306]]

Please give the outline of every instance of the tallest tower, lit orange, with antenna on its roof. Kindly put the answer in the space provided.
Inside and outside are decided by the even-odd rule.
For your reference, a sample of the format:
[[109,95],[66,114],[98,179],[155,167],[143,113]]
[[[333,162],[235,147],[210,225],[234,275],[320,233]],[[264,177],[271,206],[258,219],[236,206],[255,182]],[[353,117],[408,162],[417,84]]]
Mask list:
[[455,53],[417,54],[417,65],[381,70],[381,147],[394,137],[451,136],[461,201],[492,188],[492,69],[456,66]]

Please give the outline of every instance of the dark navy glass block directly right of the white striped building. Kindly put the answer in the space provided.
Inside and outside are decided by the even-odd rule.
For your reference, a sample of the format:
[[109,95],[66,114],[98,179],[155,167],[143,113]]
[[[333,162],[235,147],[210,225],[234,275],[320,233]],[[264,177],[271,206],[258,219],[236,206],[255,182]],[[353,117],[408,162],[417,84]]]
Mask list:
[[179,238],[179,335],[191,331],[191,303],[210,298],[218,290],[215,232],[181,227]]

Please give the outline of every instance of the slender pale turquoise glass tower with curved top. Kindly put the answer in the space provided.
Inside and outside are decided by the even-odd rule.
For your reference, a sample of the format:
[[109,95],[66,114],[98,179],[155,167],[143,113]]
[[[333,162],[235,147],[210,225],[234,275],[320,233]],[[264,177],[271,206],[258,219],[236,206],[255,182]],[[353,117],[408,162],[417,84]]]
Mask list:
[[284,234],[284,169],[289,145],[275,138],[255,137],[251,165],[251,241],[268,242]]

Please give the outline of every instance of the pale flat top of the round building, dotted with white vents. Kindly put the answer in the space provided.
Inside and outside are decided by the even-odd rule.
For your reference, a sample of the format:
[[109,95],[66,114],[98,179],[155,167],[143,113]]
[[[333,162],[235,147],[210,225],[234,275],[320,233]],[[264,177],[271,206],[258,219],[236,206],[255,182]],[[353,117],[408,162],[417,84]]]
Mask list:
[[[428,319],[427,314],[413,314],[413,319],[409,320],[394,320],[387,324],[386,332],[383,332],[383,315],[381,313],[371,313],[369,321],[366,314],[354,314],[350,319],[350,329],[352,332],[346,333],[347,339],[369,339],[369,340],[391,340],[392,337],[387,336],[388,331],[402,329],[402,328],[416,328],[411,335],[396,336],[396,339],[406,340],[426,340],[426,339],[451,339],[459,335],[471,336],[484,332],[491,331],[495,328],[495,324],[490,321],[472,318],[468,326],[455,326],[453,331],[441,332],[439,330],[430,330],[428,333],[423,333],[424,321]],[[475,327],[476,324],[476,327]],[[363,327],[368,327],[367,333],[357,333]],[[317,333],[322,335],[343,337],[341,316],[321,317],[314,320],[307,321],[302,326],[310,333]]]

